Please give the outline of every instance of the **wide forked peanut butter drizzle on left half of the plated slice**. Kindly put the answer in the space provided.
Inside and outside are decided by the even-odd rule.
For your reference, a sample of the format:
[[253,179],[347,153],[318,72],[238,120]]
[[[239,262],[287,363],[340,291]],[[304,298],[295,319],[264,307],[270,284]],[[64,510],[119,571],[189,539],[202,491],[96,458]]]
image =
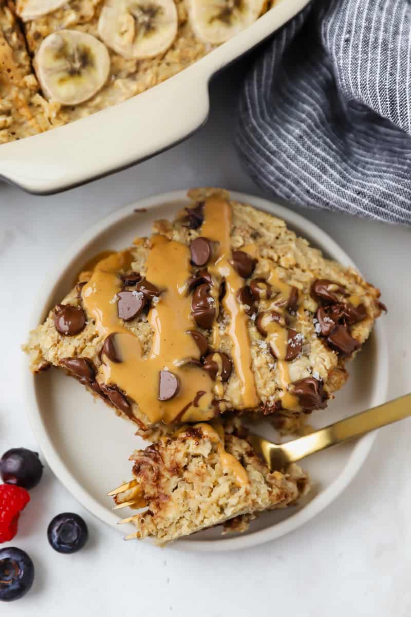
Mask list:
[[[191,299],[186,291],[190,275],[190,252],[180,242],[163,236],[153,236],[147,257],[146,278],[160,289],[157,304],[149,311],[153,330],[152,347],[147,358],[137,336],[118,318],[116,294],[121,289],[118,271],[129,268],[131,260],[113,255],[97,264],[91,280],[83,288],[83,302],[89,314],[96,319],[100,335],[116,333],[116,349],[121,362],[112,362],[104,356],[99,372],[104,382],[113,384],[134,399],[140,411],[150,422],[163,420],[170,423],[180,416],[182,421],[208,420],[214,416],[214,383],[206,371],[197,366],[177,366],[183,358],[199,357],[199,350],[187,330],[194,327],[191,317]],[[160,370],[170,370],[180,379],[180,388],[171,400],[158,400]],[[198,407],[192,403],[198,391]],[[185,412],[183,410],[187,407]],[[182,415],[181,415],[182,414]]]

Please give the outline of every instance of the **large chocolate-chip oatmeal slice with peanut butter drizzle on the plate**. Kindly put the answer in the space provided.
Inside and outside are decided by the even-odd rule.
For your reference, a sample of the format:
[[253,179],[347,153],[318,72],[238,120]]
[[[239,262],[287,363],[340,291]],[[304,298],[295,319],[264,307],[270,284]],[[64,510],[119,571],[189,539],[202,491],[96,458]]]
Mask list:
[[82,273],[30,333],[31,370],[64,368],[143,432],[325,408],[380,315],[378,289],[227,191],[189,197]]

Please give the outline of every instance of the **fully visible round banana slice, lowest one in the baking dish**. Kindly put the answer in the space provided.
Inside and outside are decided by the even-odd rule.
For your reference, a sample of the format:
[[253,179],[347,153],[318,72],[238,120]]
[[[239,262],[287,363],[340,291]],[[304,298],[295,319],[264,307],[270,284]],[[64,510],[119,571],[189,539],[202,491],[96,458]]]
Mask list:
[[99,91],[110,72],[107,48],[95,36],[59,30],[47,36],[34,67],[47,99],[78,105]]

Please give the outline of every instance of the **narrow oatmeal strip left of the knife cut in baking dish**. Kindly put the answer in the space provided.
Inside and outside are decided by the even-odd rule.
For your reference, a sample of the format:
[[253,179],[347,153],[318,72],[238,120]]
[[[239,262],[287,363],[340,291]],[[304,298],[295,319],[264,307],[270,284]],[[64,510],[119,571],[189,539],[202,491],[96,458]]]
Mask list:
[[0,0],[0,144],[49,128],[38,92],[10,2]]

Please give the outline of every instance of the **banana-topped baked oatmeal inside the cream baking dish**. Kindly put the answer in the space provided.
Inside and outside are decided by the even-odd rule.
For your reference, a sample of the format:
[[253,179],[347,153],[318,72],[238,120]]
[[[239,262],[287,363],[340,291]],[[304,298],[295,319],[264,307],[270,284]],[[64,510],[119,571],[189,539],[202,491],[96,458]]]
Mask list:
[[[0,0],[9,35],[25,57],[27,83],[20,80],[16,56],[11,67],[18,81],[15,91],[34,106],[19,130],[4,133],[2,141],[65,125],[152,88],[246,28],[274,3],[9,0],[5,8]],[[3,91],[0,95],[0,104],[7,106],[10,97]]]

